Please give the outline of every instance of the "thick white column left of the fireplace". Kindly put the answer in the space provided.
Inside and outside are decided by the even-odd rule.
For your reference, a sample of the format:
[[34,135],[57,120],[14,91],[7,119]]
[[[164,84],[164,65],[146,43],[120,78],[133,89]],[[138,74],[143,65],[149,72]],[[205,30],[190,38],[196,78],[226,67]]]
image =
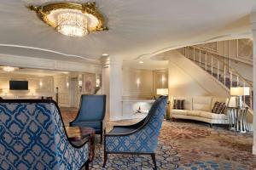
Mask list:
[[102,92],[107,94],[107,121],[119,120],[123,115],[122,64],[122,60],[117,58],[103,59]]

